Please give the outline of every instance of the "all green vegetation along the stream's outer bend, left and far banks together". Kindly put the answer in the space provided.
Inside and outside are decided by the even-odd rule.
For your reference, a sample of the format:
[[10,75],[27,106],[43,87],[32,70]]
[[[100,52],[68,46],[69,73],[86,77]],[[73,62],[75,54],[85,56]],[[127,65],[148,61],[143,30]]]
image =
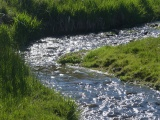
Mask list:
[[19,57],[18,48],[53,34],[108,30],[160,17],[159,0],[0,0],[0,3],[0,119],[78,119],[72,101],[59,97],[33,78]]

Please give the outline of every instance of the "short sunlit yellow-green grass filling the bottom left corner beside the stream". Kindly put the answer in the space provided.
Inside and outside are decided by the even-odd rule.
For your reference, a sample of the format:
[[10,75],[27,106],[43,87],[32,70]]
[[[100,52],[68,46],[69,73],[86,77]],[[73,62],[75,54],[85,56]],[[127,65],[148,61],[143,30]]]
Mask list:
[[[32,78],[31,78],[32,79]],[[35,83],[30,95],[0,99],[1,120],[77,120],[77,107],[70,99]]]

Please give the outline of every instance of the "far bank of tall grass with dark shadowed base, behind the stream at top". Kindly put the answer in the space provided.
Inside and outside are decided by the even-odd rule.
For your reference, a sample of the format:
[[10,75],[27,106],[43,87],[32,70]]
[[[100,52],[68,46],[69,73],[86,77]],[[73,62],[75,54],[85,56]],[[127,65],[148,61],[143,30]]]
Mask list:
[[44,35],[104,31],[160,19],[159,0],[5,1],[42,21]]

